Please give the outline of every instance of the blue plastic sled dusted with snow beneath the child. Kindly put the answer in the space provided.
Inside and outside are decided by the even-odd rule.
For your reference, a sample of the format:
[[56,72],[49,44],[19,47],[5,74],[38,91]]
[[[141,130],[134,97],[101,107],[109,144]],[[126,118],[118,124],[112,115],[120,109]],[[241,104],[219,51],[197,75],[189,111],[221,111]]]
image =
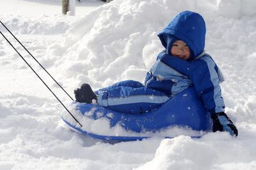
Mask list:
[[[84,112],[91,111],[92,109],[93,113],[90,114],[90,118],[94,120],[99,119],[99,114],[97,113],[101,112],[102,114],[100,115],[100,118],[108,118],[110,127],[114,127],[116,123],[120,123],[125,130],[131,130],[138,133],[145,131],[156,132],[157,130],[175,125],[180,127],[189,127],[192,130],[209,130],[211,127],[209,114],[205,110],[201,100],[196,96],[195,89],[193,87],[180,92],[161,107],[150,112],[140,114],[127,114],[93,104],[77,104],[77,110],[81,111],[82,114],[84,114]],[[97,139],[111,141],[136,141],[148,138],[147,136],[133,137],[93,134],[72,125],[67,120],[64,121],[67,125],[79,132]]]

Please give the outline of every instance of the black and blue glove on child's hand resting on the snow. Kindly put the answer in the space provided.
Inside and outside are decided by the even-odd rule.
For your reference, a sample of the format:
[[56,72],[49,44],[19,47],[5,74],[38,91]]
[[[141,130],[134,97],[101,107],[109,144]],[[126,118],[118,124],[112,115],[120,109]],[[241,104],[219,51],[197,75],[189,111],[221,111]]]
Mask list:
[[230,135],[238,135],[237,128],[234,123],[228,118],[225,112],[217,112],[211,115],[212,118],[212,132],[227,131]]

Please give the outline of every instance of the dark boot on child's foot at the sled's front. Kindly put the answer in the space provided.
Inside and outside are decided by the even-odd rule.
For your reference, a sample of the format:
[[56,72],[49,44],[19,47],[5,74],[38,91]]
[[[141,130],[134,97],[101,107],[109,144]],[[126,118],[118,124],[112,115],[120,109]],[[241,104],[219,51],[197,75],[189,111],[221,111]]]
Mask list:
[[95,93],[89,84],[84,83],[80,88],[74,90],[76,102],[80,103],[92,103],[92,100],[97,100]]

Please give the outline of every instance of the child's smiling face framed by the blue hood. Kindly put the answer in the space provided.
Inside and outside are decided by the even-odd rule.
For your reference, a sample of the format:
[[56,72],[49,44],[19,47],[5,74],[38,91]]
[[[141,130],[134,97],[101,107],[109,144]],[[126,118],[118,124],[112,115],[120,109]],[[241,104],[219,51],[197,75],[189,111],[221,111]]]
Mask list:
[[177,40],[172,44],[171,54],[180,59],[188,60],[190,56],[190,50],[185,42],[182,40]]

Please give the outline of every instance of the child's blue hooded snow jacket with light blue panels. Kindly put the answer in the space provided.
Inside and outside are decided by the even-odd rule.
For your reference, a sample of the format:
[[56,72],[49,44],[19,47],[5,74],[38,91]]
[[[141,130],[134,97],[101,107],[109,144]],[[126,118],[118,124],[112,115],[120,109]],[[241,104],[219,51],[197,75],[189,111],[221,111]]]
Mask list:
[[[195,86],[206,109],[223,112],[220,82],[224,81],[220,69],[209,54],[205,54],[205,22],[195,12],[181,12],[159,33],[164,50],[145,77],[145,87],[157,89],[173,97],[180,91]],[[184,41],[191,52],[188,61],[170,54],[175,40]]]

